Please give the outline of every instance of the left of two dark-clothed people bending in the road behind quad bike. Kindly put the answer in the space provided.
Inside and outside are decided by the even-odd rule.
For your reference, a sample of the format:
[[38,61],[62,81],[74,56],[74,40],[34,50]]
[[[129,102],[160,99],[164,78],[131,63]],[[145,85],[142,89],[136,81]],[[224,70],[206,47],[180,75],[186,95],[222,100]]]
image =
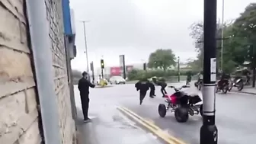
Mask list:
[[143,99],[146,97],[146,92],[149,90],[149,81],[147,78],[142,78],[135,84],[137,91],[139,91],[139,104],[142,104]]

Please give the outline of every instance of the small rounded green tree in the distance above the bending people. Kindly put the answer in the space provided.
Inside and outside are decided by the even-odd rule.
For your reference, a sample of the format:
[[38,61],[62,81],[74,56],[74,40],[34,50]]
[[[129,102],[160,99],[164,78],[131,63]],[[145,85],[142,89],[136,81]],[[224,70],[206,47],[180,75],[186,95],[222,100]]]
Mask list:
[[149,56],[149,68],[160,68],[166,71],[168,67],[174,66],[175,64],[175,55],[171,49],[158,49],[155,50],[154,53],[151,53]]

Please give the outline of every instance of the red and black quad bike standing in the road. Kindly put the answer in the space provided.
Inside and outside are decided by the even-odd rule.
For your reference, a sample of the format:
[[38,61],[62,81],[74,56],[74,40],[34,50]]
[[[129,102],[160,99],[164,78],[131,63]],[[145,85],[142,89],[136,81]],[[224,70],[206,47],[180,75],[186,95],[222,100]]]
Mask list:
[[165,117],[168,110],[174,112],[174,117],[178,123],[185,123],[188,120],[189,115],[200,114],[203,116],[203,104],[198,104],[202,99],[198,95],[189,95],[182,88],[189,88],[187,85],[183,85],[181,88],[174,88],[174,94],[165,95],[165,103],[158,105],[158,114],[160,117]]

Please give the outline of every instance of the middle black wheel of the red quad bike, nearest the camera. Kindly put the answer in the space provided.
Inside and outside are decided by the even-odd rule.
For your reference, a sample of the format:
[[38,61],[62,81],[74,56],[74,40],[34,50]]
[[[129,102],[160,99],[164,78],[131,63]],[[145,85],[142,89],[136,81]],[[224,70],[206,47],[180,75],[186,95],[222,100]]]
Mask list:
[[188,120],[188,110],[187,107],[177,107],[174,111],[175,119],[178,123],[185,123]]

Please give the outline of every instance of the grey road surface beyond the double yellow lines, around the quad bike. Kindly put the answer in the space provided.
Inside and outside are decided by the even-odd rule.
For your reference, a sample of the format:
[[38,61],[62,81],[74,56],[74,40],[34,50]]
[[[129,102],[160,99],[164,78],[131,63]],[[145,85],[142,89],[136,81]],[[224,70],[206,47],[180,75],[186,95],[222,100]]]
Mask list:
[[[182,83],[169,84],[182,85]],[[174,91],[166,89],[169,94]],[[201,95],[196,88],[187,88],[189,93]],[[174,114],[169,112],[165,118],[158,115],[158,104],[164,103],[160,88],[156,87],[156,98],[147,96],[142,105],[139,105],[139,94],[134,85],[114,85],[110,88],[91,89],[91,101],[99,101],[98,95],[104,95],[101,101],[110,101],[112,105],[119,105],[132,110],[140,117],[151,121],[171,136],[184,140],[190,144],[199,143],[200,126],[202,117],[191,116],[187,123],[178,123]],[[148,91],[149,95],[149,91]],[[102,103],[102,102],[101,102]],[[219,144],[252,144],[256,137],[256,95],[238,94],[216,94],[216,126],[219,130]]]

